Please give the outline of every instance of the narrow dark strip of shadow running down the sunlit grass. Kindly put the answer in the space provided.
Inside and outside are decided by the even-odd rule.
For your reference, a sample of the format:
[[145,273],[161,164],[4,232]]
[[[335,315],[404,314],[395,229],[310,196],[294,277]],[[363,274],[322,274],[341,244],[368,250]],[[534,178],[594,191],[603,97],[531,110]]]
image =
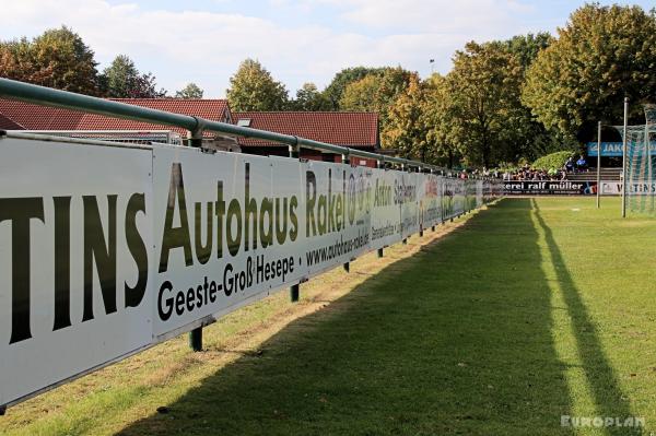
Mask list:
[[[531,201],[536,220],[544,234],[544,240],[549,249],[549,260],[553,264],[563,293],[563,299],[567,306],[566,310],[572,322],[578,356],[596,406],[595,416],[602,419],[617,417],[620,422],[624,422],[625,419],[633,416],[630,403],[620,389],[612,366],[606,358],[597,330],[581,297],[581,293],[572,276],[567,273],[567,266],[553,237],[553,232],[544,223],[538,203],[535,200]],[[642,434],[642,428],[637,426],[621,427],[613,425],[606,427],[605,431],[608,434],[617,435]]]

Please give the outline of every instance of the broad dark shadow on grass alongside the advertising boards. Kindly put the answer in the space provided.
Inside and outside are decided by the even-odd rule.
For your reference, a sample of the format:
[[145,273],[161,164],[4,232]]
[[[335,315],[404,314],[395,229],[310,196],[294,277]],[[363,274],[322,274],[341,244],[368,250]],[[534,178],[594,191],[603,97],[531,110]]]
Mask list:
[[530,214],[472,216],[121,434],[571,434]]

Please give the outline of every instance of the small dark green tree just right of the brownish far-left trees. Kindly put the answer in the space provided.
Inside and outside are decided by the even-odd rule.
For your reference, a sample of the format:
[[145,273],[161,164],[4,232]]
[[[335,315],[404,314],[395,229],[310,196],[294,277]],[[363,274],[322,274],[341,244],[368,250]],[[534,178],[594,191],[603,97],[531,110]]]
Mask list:
[[166,90],[156,90],[152,73],[140,73],[132,59],[118,55],[101,78],[103,94],[112,98],[161,98]]

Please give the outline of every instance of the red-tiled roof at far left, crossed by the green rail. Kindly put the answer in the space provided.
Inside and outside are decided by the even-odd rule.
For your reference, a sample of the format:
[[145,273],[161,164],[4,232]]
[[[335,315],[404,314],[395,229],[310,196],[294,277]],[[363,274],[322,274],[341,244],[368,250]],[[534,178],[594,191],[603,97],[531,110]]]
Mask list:
[[[110,98],[134,106],[150,107],[175,114],[192,115],[213,121],[231,121],[225,99],[181,98]],[[112,118],[48,106],[0,98],[0,114],[27,130],[174,130],[186,135],[185,129]],[[213,133],[207,132],[211,137]]]

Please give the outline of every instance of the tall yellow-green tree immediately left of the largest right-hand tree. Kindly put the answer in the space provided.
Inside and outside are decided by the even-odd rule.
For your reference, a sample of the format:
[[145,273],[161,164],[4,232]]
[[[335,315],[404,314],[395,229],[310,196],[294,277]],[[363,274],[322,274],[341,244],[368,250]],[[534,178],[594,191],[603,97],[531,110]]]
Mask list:
[[456,51],[446,78],[447,110],[450,137],[468,164],[489,167],[516,156],[512,126],[523,115],[522,80],[519,62],[497,44],[471,42]]

